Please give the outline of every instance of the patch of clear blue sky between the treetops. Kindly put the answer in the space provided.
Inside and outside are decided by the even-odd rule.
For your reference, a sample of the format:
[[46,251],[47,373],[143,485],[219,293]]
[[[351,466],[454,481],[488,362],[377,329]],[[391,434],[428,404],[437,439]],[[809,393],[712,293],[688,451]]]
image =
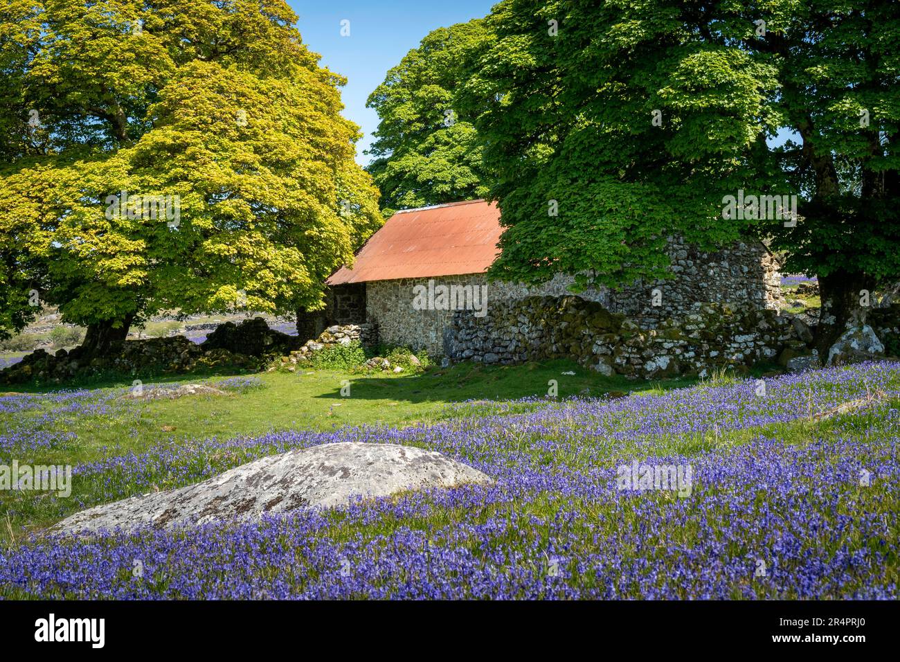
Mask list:
[[[356,143],[356,160],[378,126],[378,115],[365,100],[410,49],[435,28],[481,18],[497,0],[288,0],[300,16],[303,41],[322,56],[321,64],[347,77],[342,91],[344,116],[359,124],[365,136]],[[341,36],[341,21],[350,22],[350,36]]]

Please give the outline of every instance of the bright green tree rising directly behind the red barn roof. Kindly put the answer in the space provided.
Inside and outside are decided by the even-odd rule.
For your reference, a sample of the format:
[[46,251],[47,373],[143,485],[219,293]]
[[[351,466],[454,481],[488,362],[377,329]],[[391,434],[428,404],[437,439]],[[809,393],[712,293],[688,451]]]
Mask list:
[[490,42],[482,19],[430,32],[369,96],[381,122],[367,169],[386,212],[487,193],[482,147],[455,96]]

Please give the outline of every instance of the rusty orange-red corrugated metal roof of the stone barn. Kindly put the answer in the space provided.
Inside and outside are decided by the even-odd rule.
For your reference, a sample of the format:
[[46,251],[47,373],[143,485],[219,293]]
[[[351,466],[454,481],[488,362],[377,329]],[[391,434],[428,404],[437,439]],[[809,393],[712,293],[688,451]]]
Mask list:
[[500,209],[483,200],[395,213],[329,285],[480,274],[500,250]]

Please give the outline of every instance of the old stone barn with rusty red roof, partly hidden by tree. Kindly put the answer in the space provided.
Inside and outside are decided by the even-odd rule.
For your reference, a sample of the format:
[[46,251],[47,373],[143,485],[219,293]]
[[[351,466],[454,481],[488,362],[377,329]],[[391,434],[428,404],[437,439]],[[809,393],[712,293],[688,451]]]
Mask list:
[[[488,283],[485,272],[498,255],[500,210],[483,200],[441,204],[395,213],[356,255],[353,268],[329,277],[326,307],[300,312],[301,336],[315,338],[333,324],[370,323],[390,345],[427,349],[445,356],[454,315],[481,318],[495,304],[531,295],[571,295],[571,277],[539,287]],[[694,304],[730,304],[743,309],[774,308],[779,296],[777,263],[761,244],[701,252],[670,241],[675,277],[578,296],[599,302],[652,326],[689,313]],[[662,291],[654,301],[653,289]]]

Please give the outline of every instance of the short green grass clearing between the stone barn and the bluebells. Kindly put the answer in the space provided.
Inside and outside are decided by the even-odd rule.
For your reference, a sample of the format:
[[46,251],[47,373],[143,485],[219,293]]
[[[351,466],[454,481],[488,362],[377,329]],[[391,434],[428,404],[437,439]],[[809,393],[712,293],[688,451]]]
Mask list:
[[[563,375],[563,372],[575,374]],[[197,381],[214,383],[221,378],[223,376],[203,379],[178,376],[148,381],[145,387]],[[257,378],[262,382],[261,387],[229,397],[203,395],[176,400],[121,402],[122,406],[116,407],[117,411],[111,414],[73,415],[65,421],[64,427],[76,434],[77,443],[69,445],[62,453],[41,452],[34,461],[75,464],[111,453],[138,452],[166,439],[227,439],[270,431],[324,431],[344,425],[409,425],[437,420],[445,415],[446,404],[543,397],[551,379],[557,381],[560,397],[598,396],[630,390],[658,392],[692,383],[690,380],[648,383],[609,378],[568,360],[509,367],[458,364],[433,368],[418,376],[354,375],[298,367],[294,373],[270,372]],[[350,395],[344,397],[341,388],[347,383]],[[99,393],[130,385],[130,380],[126,379],[108,382]],[[39,410],[31,416],[41,413]],[[16,415],[23,417],[23,414]],[[0,423],[4,422],[12,422],[9,414],[0,414]]]

